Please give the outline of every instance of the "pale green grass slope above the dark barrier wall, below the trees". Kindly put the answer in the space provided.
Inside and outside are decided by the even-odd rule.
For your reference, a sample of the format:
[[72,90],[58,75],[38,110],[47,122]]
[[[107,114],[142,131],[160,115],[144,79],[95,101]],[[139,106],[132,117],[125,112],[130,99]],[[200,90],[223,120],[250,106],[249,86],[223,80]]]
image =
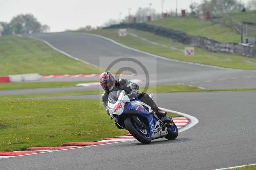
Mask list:
[[223,43],[240,43],[241,41],[240,35],[236,33],[234,28],[212,24],[211,21],[202,19],[168,17],[158,21],[150,21],[147,24],[172,28],[188,35],[204,36]]

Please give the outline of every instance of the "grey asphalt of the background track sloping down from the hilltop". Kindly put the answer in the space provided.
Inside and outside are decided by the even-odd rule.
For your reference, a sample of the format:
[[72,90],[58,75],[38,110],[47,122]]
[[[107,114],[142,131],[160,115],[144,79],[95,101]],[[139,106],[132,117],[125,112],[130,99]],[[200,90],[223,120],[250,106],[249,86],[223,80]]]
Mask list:
[[[195,86],[201,86],[207,89],[255,87],[256,71],[221,69],[211,66],[200,66],[184,62],[175,62],[173,60],[166,60],[163,58],[156,58],[152,57],[151,54],[127,49],[106,39],[93,35],[78,33],[52,33],[33,36],[47,41],[57,49],[76,58],[103,68],[106,68],[111,62],[118,58],[135,58],[147,68],[152,85],[156,83],[159,85],[192,83]],[[134,62],[120,62],[112,68],[118,70],[124,66],[134,68],[138,73],[138,78],[145,79],[144,71]]]

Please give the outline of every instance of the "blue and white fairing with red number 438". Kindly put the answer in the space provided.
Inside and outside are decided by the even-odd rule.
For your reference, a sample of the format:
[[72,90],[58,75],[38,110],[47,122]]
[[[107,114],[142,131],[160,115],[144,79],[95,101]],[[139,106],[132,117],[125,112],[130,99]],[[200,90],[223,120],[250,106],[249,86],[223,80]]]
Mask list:
[[[152,94],[150,94],[149,96],[152,98]],[[147,107],[148,110],[145,109],[144,106]],[[117,123],[120,126],[122,125],[122,123],[118,122],[118,119],[122,117],[125,112],[132,110],[134,111],[134,113],[137,113],[148,120],[147,123],[149,127],[149,134],[153,139],[168,134],[167,128],[165,127],[165,129],[162,129],[160,126],[160,122],[157,121],[152,114],[150,114],[152,112],[151,107],[148,104],[141,102],[137,97],[129,98],[127,95],[125,95],[124,90],[120,92],[120,95],[114,104],[108,102],[108,107],[110,108],[110,116],[114,119],[117,119]]]

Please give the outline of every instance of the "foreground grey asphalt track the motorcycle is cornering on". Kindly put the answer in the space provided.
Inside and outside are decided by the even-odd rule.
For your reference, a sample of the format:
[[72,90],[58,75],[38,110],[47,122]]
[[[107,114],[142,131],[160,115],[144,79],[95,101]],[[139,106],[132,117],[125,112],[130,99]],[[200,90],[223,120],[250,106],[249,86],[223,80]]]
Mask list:
[[256,160],[255,96],[256,91],[154,94],[161,107],[195,116],[199,123],[181,132],[175,140],[162,138],[148,145],[129,141],[4,158],[0,159],[0,169],[211,170],[253,164]]

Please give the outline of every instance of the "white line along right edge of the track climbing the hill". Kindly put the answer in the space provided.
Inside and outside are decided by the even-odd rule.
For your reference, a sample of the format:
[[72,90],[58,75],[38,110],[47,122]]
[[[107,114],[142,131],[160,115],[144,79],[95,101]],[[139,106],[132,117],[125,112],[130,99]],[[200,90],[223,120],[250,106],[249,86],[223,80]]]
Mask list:
[[[76,33],[72,33],[72,34],[76,34]],[[104,37],[104,36],[102,36],[102,35],[91,34],[91,33],[82,33],[82,34],[100,37],[100,38],[103,38],[103,39],[105,39],[105,40],[111,41],[112,43],[115,43],[116,45],[120,45],[120,46],[122,46],[122,47],[124,47],[124,48],[126,48],[126,49],[134,50],[134,51],[137,51],[137,52],[140,52],[140,53],[143,53],[143,54],[147,54],[147,55],[149,55],[149,56],[153,56],[153,57],[156,57],[156,58],[161,58],[161,59],[168,60],[168,61],[174,61],[174,62],[185,63],[185,64],[193,64],[193,65],[205,66],[205,67],[212,67],[212,68],[218,68],[218,69],[223,69],[223,70],[232,70],[232,71],[252,71],[252,72],[256,72],[256,70],[242,70],[242,69],[225,68],[225,67],[211,66],[211,65],[200,64],[200,63],[193,63],[193,62],[188,62],[188,61],[181,61],[181,60],[176,60],[176,59],[171,59],[171,58],[165,58],[165,57],[158,56],[158,55],[155,55],[155,54],[151,54],[151,53],[148,53],[148,52],[145,52],[145,51],[141,51],[141,50],[138,50],[138,49],[135,49],[135,48],[132,48],[132,47],[128,47],[128,46],[126,46],[126,45],[124,45],[124,44],[118,43],[118,42],[116,42],[115,40],[112,40],[112,39],[110,39],[110,38]]]

